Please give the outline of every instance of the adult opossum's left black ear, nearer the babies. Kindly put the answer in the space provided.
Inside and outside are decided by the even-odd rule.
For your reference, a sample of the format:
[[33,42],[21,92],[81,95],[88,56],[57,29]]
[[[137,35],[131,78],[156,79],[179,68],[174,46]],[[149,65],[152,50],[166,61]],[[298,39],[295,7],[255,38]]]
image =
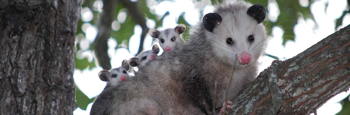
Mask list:
[[214,28],[219,25],[221,21],[222,18],[217,13],[208,13],[203,16],[203,26],[209,32],[213,32]]

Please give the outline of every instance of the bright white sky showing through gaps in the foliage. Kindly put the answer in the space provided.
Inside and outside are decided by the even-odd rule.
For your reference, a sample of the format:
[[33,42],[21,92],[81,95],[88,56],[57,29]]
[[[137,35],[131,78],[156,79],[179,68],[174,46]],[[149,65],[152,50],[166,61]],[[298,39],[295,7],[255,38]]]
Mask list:
[[[132,0],[136,1],[136,0]],[[195,26],[197,21],[200,21],[200,9],[204,7],[203,14],[207,14],[212,12],[212,5],[210,3],[210,0],[203,0],[202,2],[198,2],[197,4],[193,4],[192,1],[195,0],[175,0],[175,2],[170,1],[163,1],[160,4],[156,4],[155,0],[147,0],[148,6],[151,8],[151,12],[155,13],[159,17],[163,16],[163,14],[168,10],[170,12],[170,15],[166,16],[163,20],[163,26],[159,27],[158,29],[164,29],[164,28],[173,28],[178,23],[176,23],[177,17],[180,15],[181,12],[186,12],[184,15],[185,20],[191,25]],[[280,14],[280,11],[278,9],[278,5],[275,4],[275,0],[269,0],[270,4],[267,6],[269,9],[269,13],[267,14],[269,19],[271,21],[274,21],[277,19],[277,16]],[[309,2],[308,0],[299,0],[300,5],[302,6],[308,6]],[[328,7],[326,8],[325,5],[328,3]],[[297,20],[297,25],[294,27],[295,32],[295,42],[288,41],[286,43],[286,46],[282,46],[282,35],[283,35],[283,29],[280,27],[274,27],[272,31],[272,35],[269,36],[270,40],[268,42],[268,48],[266,50],[266,53],[275,55],[279,58],[286,58],[289,59],[302,51],[306,50],[307,48],[311,47],[318,41],[322,40],[323,38],[327,37],[328,35],[336,32],[339,30],[339,28],[343,28],[350,24],[350,14],[346,14],[343,19],[343,25],[341,27],[335,28],[335,20],[338,19],[344,10],[346,10],[347,2],[346,0],[316,0],[311,5],[311,13],[313,14],[315,21],[303,18],[300,18]],[[179,8],[181,6],[182,8]],[[102,0],[97,0],[93,4],[94,9],[97,11],[102,11],[103,2]],[[325,12],[324,12],[325,11]],[[117,19],[118,21],[114,21],[112,23],[112,29],[117,31],[120,29],[120,23],[123,23],[126,19],[127,14],[125,12],[119,13]],[[79,50],[77,52],[78,58],[84,58],[87,57],[88,60],[91,62],[94,54],[91,51],[83,51],[89,48],[90,43],[93,42],[93,40],[96,37],[97,30],[96,27],[88,23],[93,18],[93,14],[90,11],[89,8],[82,8],[81,11],[81,19],[84,22],[83,24],[83,32],[84,34],[77,35],[76,42],[80,42],[80,48],[82,50]],[[149,28],[155,27],[155,21],[147,19],[147,26]],[[114,39],[109,39],[108,41],[108,53],[111,57],[111,64],[112,68],[117,68],[121,65],[121,62],[126,59],[130,59],[133,57],[134,54],[137,53],[138,50],[138,44],[140,43],[140,35],[141,35],[141,28],[140,26],[135,26],[134,28],[135,34],[131,36],[128,49],[126,48],[118,48],[117,50],[115,47],[117,46],[117,41]],[[85,36],[85,38],[84,38]],[[118,43],[120,44],[120,43]],[[158,44],[158,41],[155,41],[153,43],[151,36],[147,35],[146,41],[144,42],[144,50],[150,50],[151,46],[153,44]],[[125,45],[125,43],[124,43]],[[161,54],[163,51],[160,49]],[[130,52],[129,52],[130,51]],[[287,53],[288,52],[288,53]],[[118,56],[123,55],[123,56]],[[274,59],[271,57],[264,56],[261,58],[262,66],[259,68],[259,71],[261,72],[265,68],[267,68],[269,65],[271,65],[271,62]],[[98,63],[96,63],[98,65]],[[102,70],[101,67],[95,67],[92,70],[78,70],[76,69],[74,72],[74,81],[76,85],[82,90],[84,94],[86,94],[89,98],[92,98],[96,95],[98,95],[100,92],[102,92],[103,88],[106,86],[106,83],[101,81],[97,74],[98,72]],[[93,84],[93,85],[91,85]],[[348,93],[341,93],[327,101],[322,107],[317,109],[318,115],[334,115],[338,113],[342,106],[339,103],[339,101],[343,100]],[[80,108],[77,108],[73,114],[75,115],[89,115],[90,108],[92,106],[92,103],[90,103],[87,106],[87,110],[82,110]],[[311,114],[313,115],[313,114]]]

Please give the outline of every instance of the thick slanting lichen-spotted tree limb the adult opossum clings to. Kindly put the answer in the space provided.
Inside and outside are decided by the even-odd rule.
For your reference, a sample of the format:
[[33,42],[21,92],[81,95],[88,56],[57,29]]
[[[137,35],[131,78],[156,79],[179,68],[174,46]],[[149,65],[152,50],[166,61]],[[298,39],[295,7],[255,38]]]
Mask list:
[[[278,115],[315,113],[331,97],[350,87],[350,25],[304,52],[283,61],[277,72],[282,104]],[[232,103],[232,114],[263,114],[273,107],[268,76],[271,67]]]

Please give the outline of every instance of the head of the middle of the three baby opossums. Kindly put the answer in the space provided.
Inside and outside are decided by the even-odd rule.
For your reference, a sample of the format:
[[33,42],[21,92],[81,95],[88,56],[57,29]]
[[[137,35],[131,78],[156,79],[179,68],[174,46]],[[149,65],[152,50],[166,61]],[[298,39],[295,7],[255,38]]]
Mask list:
[[128,60],[130,66],[132,67],[142,67],[145,66],[149,61],[155,59],[155,56],[159,53],[158,45],[153,45],[152,50],[147,50],[140,55],[133,57]]

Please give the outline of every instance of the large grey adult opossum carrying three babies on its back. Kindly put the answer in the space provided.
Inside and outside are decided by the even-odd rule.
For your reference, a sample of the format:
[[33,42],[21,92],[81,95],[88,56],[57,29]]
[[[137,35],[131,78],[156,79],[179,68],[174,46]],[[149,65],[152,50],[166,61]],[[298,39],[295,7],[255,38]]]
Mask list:
[[[214,13],[203,16],[202,23],[181,50],[155,57],[141,74],[106,89],[100,94],[104,97],[100,100],[106,103],[99,106],[108,109],[92,108],[91,112],[215,114],[211,110],[226,103],[226,93],[228,100],[234,100],[255,80],[258,59],[266,46],[266,30],[261,23],[265,16],[265,8],[260,4],[228,0],[216,5]],[[232,82],[226,92],[230,76]]]

